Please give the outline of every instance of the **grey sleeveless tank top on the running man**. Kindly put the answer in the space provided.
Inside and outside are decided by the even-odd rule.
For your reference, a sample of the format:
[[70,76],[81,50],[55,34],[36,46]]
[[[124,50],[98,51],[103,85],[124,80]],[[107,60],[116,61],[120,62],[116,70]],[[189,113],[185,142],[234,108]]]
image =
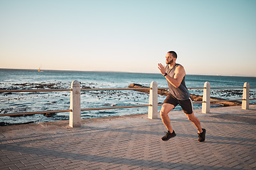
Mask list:
[[[174,71],[175,71],[176,67],[178,67],[179,65],[181,65],[181,64],[176,64],[172,69],[169,69],[169,66],[166,65],[166,67],[165,67],[166,73],[170,77],[174,77]],[[187,100],[188,98],[190,98],[190,94],[189,94],[188,89],[185,84],[185,77],[183,77],[183,79],[181,81],[181,85],[178,86],[178,88],[176,88],[171,83],[169,83],[169,81],[167,81],[167,84],[169,86],[169,90],[170,90],[169,94],[171,94],[171,96],[174,96],[178,100]]]

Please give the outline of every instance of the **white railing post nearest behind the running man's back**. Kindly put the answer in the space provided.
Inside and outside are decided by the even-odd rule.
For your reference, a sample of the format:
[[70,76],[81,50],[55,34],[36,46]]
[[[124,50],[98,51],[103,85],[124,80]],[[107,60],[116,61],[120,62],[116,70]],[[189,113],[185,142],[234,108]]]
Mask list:
[[210,83],[205,82],[203,89],[202,113],[210,113]]

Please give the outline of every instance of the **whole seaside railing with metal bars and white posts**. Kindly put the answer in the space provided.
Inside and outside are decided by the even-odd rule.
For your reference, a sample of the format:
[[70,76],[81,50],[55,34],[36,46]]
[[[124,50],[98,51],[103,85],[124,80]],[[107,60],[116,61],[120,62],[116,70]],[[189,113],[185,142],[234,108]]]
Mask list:
[[[161,106],[162,103],[158,103],[157,91],[158,90],[168,90],[169,88],[157,88],[155,81],[151,82],[149,88],[122,88],[122,89],[80,89],[80,83],[78,81],[73,81],[71,89],[25,89],[25,90],[0,90],[0,93],[7,92],[46,92],[46,91],[70,91],[70,109],[68,110],[57,110],[57,111],[36,111],[36,112],[26,112],[26,113],[7,113],[0,114],[0,116],[18,116],[18,115],[34,115],[42,113],[63,113],[70,112],[70,126],[80,126],[80,112],[81,111],[98,111],[106,109],[117,109],[117,108],[138,108],[138,107],[149,107],[149,118],[157,118],[157,106]],[[203,89],[203,101],[193,101],[193,103],[202,103],[202,113],[210,113],[210,103],[220,102],[220,101],[242,101],[242,108],[249,108],[249,101],[256,100],[256,98],[249,98],[250,89],[256,89],[256,87],[249,87],[249,84],[245,83],[243,87],[211,87],[210,83],[206,81],[204,87],[191,87],[188,89]],[[242,98],[232,99],[232,100],[210,100],[210,89],[243,89]],[[146,105],[135,105],[135,106],[114,106],[114,107],[104,107],[104,108],[80,108],[80,91],[125,91],[125,90],[149,90],[149,104]],[[75,92],[77,91],[77,92]],[[75,100],[75,103],[72,102]],[[79,106],[74,106],[79,103]],[[77,113],[75,113],[77,112]],[[75,118],[75,120],[73,120]],[[78,123],[74,123],[77,121]]]

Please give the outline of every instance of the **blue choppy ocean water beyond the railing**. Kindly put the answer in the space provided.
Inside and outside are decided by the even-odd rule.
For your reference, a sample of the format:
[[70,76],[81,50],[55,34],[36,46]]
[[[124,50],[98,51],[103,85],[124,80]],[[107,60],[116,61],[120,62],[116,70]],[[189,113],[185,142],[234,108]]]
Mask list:
[[[166,79],[161,74],[129,72],[77,72],[0,69],[0,89],[70,89],[73,80],[80,81],[81,89],[127,88],[129,84],[150,86],[156,81],[158,87],[167,87]],[[223,77],[186,75],[187,87],[203,87],[209,81],[211,87],[242,87],[245,82],[256,87],[255,77]],[[190,89],[191,94],[203,95],[203,89]],[[212,89],[211,96],[238,99],[242,98],[242,89]],[[165,96],[159,96],[159,103]],[[250,98],[256,98],[256,89],[250,89]],[[0,93],[0,114],[25,113],[34,111],[67,110],[70,105],[70,91]],[[149,94],[139,91],[81,91],[81,108],[100,108],[109,106],[144,105],[149,103]],[[250,101],[256,103],[256,101]],[[201,103],[194,103],[194,108],[201,108]],[[219,107],[213,105],[212,107]],[[159,106],[160,110],[161,106]],[[147,113],[144,108],[122,108],[101,111],[83,111],[82,118],[99,118],[117,115]],[[176,107],[176,110],[181,110]],[[40,123],[68,120],[69,113],[55,113],[51,117],[43,114],[19,117],[1,116],[0,125],[21,123]]]

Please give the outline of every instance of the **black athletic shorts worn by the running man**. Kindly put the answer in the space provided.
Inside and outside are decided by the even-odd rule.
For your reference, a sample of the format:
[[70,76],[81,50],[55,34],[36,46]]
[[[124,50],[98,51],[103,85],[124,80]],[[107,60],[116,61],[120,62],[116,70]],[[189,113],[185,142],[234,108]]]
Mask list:
[[188,100],[178,100],[177,98],[174,98],[174,96],[171,96],[171,94],[168,94],[166,99],[164,100],[164,103],[169,103],[174,105],[174,108],[179,104],[186,114],[192,114],[193,113],[193,103],[191,98],[188,98]]

